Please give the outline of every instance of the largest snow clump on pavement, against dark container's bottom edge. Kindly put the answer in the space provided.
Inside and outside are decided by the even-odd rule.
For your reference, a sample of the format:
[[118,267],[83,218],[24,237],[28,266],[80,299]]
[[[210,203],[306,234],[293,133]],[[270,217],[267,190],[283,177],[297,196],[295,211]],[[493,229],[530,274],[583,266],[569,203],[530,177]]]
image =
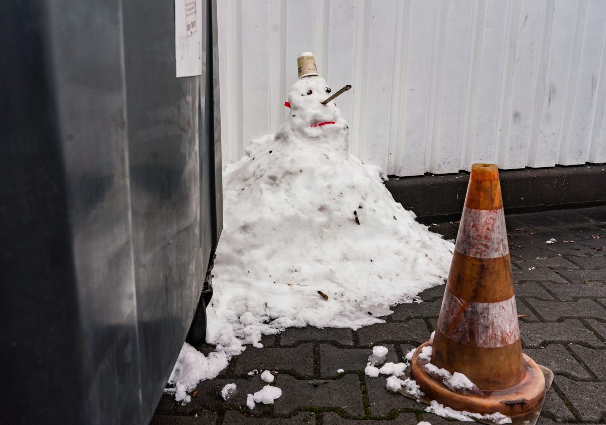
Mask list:
[[216,377],[227,367],[227,355],[224,352],[211,352],[207,357],[184,343],[179,358],[168,378],[168,384],[175,386],[175,400],[189,403],[191,397],[188,391],[195,389],[201,380]]

